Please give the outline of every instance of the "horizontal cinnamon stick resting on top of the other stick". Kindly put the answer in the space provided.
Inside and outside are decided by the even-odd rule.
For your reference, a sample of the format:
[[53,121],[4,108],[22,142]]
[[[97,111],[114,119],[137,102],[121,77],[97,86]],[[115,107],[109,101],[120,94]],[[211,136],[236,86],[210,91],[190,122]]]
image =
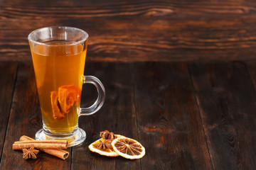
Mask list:
[[13,149],[26,149],[35,147],[37,149],[67,149],[68,145],[58,143],[14,143]]

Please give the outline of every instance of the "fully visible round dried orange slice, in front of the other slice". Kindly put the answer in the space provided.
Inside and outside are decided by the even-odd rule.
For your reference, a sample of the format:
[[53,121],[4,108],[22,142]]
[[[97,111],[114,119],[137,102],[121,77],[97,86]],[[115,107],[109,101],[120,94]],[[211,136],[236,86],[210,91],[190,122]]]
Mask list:
[[119,137],[113,140],[111,145],[117,154],[127,159],[139,159],[145,155],[145,148],[128,137]]

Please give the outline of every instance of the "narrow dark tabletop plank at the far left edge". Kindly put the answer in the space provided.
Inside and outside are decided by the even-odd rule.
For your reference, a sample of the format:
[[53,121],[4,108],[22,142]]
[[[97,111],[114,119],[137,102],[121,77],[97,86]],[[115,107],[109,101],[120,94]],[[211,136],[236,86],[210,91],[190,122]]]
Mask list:
[[17,63],[0,63],[0,162],[6,128],[9,122],[11,101],[16,82]]

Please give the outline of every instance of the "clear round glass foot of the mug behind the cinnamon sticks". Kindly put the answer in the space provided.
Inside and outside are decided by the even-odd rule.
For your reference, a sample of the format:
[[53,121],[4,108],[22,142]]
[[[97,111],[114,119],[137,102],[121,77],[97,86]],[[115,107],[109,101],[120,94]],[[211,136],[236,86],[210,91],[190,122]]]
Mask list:
[[36,132],[36,140],[68,140],[68,147],[73,147],[80,145],[86,138],[85,130],[82,130],[81,128],[77,128],[68,135],[60,135],[58,133],[51,133],[47,131],[48,130],[44,129],[38,130],[38,132]]

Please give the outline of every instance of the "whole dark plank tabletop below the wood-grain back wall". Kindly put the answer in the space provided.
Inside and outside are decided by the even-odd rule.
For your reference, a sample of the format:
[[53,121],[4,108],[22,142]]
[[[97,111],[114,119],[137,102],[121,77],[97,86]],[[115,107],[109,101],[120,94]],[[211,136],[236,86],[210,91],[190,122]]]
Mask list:
[[[9,86],[6,98],[12,101],[1,101],[1,106],[9,103],[4,117],[9,120],[0,169],[256,168],[255,62],[87,63],[85,74],[105,84],[106,103],[95,115],[80,118],[87,140],[68,149],[65,161],[43,153],[25,161],[21,152],[12,151],[18,137],[33,137],[41,128],[41,114],[32,64],[7,66],[15,88],[2,84]],[[92,86],[84,88],[85,101],[95,98]],[[88,145],[106,129],[139,140],[145,157],[132,161],[90,152]]]

